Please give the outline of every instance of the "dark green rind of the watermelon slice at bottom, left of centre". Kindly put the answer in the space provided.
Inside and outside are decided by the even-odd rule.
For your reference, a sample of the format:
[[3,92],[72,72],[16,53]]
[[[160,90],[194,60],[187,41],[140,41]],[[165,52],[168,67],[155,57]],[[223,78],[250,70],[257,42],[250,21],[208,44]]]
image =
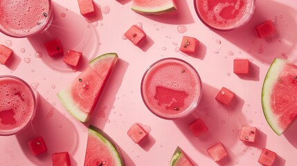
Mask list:
[[122,153],[118,145],[116,145],[116,142],[114,142],[114,140],[111,139],[107,135],[107,133],[105,133],[104,131],[102,131],[101,129],[98,129],[98,127],[95,127],[93,125],[89,126],[89,132],[97,136],[97,138],[99,138],[100,141],[102,141],[108,147],[108,149],[112,151],[112,155],[114,156],[114,158],[116,158],[116,165],[125,166],[125,161],[122,157]]

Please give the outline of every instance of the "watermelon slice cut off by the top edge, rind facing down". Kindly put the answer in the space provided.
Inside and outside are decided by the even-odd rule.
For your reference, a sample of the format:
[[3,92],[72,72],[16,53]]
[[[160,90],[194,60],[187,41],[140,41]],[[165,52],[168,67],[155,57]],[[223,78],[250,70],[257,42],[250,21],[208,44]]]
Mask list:
[[134,0],[131,9],[143,15],[162,15],[177,10],[177,3],[175,0]]

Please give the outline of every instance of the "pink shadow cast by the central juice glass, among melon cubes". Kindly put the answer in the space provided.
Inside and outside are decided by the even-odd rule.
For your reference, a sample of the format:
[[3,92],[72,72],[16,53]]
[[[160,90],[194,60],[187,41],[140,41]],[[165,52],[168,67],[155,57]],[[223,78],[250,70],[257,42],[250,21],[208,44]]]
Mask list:
[[[242,124],[247,124],[241,111],[244,100],[237,97],[236,104],[225,110],[214,98],[219,90],[208,84],[203,84],[202,87],[202,97],[197,109],[186,118],[174,120],[174,123],[183,131],[193,147],[201,151],[201,154],[208,156],[206,149],[217,142],[224,143],[224,146],[232,150],[233,153],[240,154],[241,151],[235,147],[239,142],[237,131],[242,127]],[[188,129],[188,124],[197,118],[204,121],[208,127],[208,133],[195,138]]]

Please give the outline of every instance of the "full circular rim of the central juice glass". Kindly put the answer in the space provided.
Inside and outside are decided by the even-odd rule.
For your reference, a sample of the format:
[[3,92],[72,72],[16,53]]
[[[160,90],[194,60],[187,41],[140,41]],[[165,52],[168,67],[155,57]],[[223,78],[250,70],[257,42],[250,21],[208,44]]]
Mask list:
[[[185,66],[187,66],[188,68],[190,68],[193,73],[195,73],[195,76],[197,76],[197,80],[199,82],[199,96],[197,98],[197,100],[193,100],[192,103],[195,102],[195,104],[192,105],[191,109],[188,109],[188,110],[185,110],[183,111],[182,113],[178,113],[177,115],[174,115],[174,116],[165,116],[165,115],[162,115],[161,113],[157,113],[156,111],[154,111],[154,109],[152,109],[150,107],[149,104],[147,104],[147,101],[145,100],[145,95],[143,94],[143,84],[145,82],[145,78],[146,78],[146,75],[147,73],[150,71],[150,69],[155,66],[156,64],[159,64],[160,62],[164,62],[166,60],[175,60],[177,62],[181,62],[182,64],[184,64]],[[194,66],[192,66],[191,64],[189,64],[188,62],[186,62],[185,60],[183,59],[179,59],[177,57],[165,57],[163,59],[159,59],[157,60],[156,62],[152,63],[146,70],[145,70],[145,73],[143,73],[143,77],[141,79],[141,98],[143,99],[143,102],[145,104],[145,107],[147,107],[147,109],[150,110],[150,112],[152,112],[155,116],[158,116],[159,118],[163,118],[165,120],[176,120],[176,119],[181,119],[181,118],[185,118],[186,116],[188,116],[190,113],[192,113],[193,111],[195,111],[195,109],[197,109],[197,106],[201,100],[201,95],[202,95],[202,82],[201,82],[201,78],[200,78],[200,75],[199,73],[197,72],[197,70],[194,68]],[[190,108],[190,107],[189,107]]]

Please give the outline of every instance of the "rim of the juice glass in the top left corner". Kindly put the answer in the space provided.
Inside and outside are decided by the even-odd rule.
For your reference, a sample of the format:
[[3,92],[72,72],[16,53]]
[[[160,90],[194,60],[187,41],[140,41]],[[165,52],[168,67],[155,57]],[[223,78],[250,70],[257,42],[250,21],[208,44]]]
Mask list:
[[39,33],[43,33],[45,30],[48,29],[49,26],[51,26],[51,22],[53,21],[53,4],[51,2],[51,0],[48,0],[48,18],[46,19],[46,21],[44,21],[42,23],[41,26],[39,26],[39,28],[33,32],[27,33],[27,34],[18,34],[18,33],[10,33],[9,30],[6,30],[5,28],[3,28],[3,26],[0,25],[0,32],[3,33],[4,35],[7,35],[9,37],[15,37],[15,38],[24,38],[24,37],[31,37],[33,35],[39,34]]

